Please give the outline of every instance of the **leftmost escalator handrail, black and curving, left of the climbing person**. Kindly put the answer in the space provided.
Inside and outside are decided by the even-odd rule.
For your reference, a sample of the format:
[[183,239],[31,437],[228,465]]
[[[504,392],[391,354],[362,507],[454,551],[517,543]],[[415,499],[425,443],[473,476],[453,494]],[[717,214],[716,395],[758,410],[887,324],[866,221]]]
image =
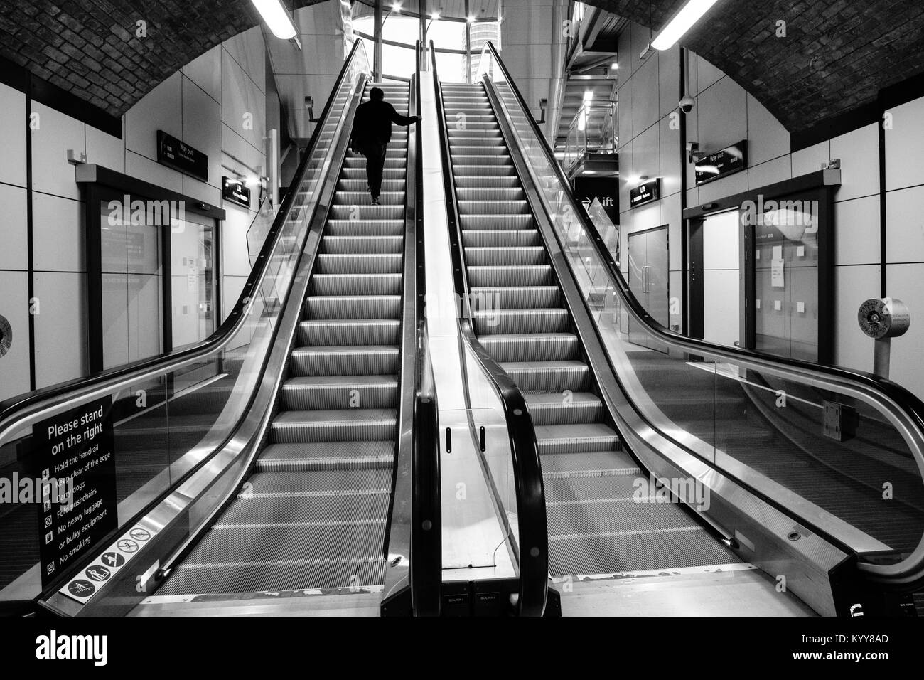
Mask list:
[[[331,107],[334,105],[336,93],[343,85],[360,45],[362,45],[362,42],[357,41],[344,61],[344,66],[334,82],[334,89],[324,105],[320,118],[323,122],[326,122]],[[361,47],[361,49],[365,53],[365,46]],[[281,238],[286,219],[288,219],[292,204],[298,195],[298,187],[308,170],[310,159],[320,141],[323,127],[323,123],[319,123],[311,135],[309,146],[298,164],[298,170],[292,180],[290,191],[287,192],[286,200],[276,214],[273,227],[267,234],[261,253],[257,257],[257,266],[251,269],[247,282],[244,284],[244,288],[238,296],[237,303],[235,303],[231,313],[211,336],[191,347],[177,350],[176,352],[169,352],[134,364],[119,366],[118,368],[98,373],[95,376],[75,378],[14,397],[6,402],[0,402],[0,446],[3,446],[4,440],[11,432],[25,427],[23,425],[24,420],[28,420],[29,424],[34,423],[43,417],[67,411],[95,397],[111,394],[117,389],[128,388],[152,377],[175,371],[182,365],[192,364],[222,351],[235,337],[241,325],[245,323],[248,317],[246,312],[249,304],[256,291],[261,289],[261,283],[266,277],[271,264],[271,255]]]

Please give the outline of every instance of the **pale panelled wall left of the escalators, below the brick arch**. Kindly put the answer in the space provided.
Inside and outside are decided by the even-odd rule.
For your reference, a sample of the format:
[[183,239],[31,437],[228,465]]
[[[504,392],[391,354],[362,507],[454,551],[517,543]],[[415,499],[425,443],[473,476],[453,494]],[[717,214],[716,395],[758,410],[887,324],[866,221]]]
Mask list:
[[[122,139],[37,102],[32,103],[34,122],[27,132],[25,95],[0,85],[0,148],[6,161],[0,163],[0,204],[4,206],[0,211],[0,315],[9,319],[14,335],[11,352],[0,358],[0,399],[30,389],[30,276],[40,312],[35,315],[37,387],[79,377],[86,370],[85,206],[75,169],[67,163],[67,150],[86,153],[92,164],[222,205],[222,176],[233,175],[227,167],[245,176],[252,174],[228,153],[250,167],[262,167],[265,173],[265,91],[265,46],[260,27],[199,56],[154,88],[123,117]],[[246,113],[252,114],[252,127],[245,125]],[[157,130],[165,130],[208,155],[208,181],[158,164]],[[25,191],[27,134],[32,143],[31,272]],[[225,305],[229,306],[237,300],[243,278],[249,274],[246,232],[255,213],[237,206],[224,207],[231,224],[225,228],[223,243],[223,271],[233,277],[225,286]],[[150,280],[124,281],[127,291],[135,291],[136,303],[156,293],[150,284]],[[149,355],[151,347],[138,345],[152,335],[140,328],[147,317],[130,308],[114,314],[110,335],[122,339],[123,360]],[[128,333],[129,326],[138,332]],[[127,335],[138,336],[138,342],[129,347]],[[116,337],[110,338],[110,347],[115,346]]]

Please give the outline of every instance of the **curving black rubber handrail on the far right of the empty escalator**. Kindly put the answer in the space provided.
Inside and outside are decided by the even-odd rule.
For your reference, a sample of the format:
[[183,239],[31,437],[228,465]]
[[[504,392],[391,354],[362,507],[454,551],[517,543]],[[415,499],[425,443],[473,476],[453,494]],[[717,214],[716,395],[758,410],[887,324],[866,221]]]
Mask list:
[[[619,271],[619,267],[616,266],[613,253],[610,253],[609,248],[607,247],[605,241],[603,241],[602,236],[600,235],[599,230],[596,225],[590,220],[590,217],[587,216],[583,209],[574,200],[574,196],[569,191],[570,184],[568,183],[567,178],[565,177],[565,171],[558,164],[558,161],[555,159],[555,155],[552,147],[549,142],[546,140],[545,136],[542,134],[542,131],[539,128],[539,125],[536,123],[535,119],[529,113],[529,105],[527,105],[526,100],[523,98],[522,93],[520,93],[517,88],[517,83],[512,79],[509,70],[506,68],[506,65],[501,59],[501,56],[498,54],[497,49],[494,47],[493,43],[488,42],[485,44],[485,51],[490,51],[492,58],[495,60],[496,64],[504,73],[505,84],[510,87],[511,92],[514,94],[517,99],[517,103],[520,105],[526,118],[528,120],[528,125],[532,130],[533,135],[539,140],[541,144],[541,149],[543,155],[546,156],[549,161],[549,165],[554,168],[555,175],[562,187],[565,189],[565,194],[567,200],[572,204],[572,213],[579,216],[581,220],[581,225],[585,229],[585,232],[590,237],[590,241],[594,245],[598,256],[601,258],[605,266],[605,271],[607,277],[609,278],[610,283],[614,286],[614,289],[618,291],[618,294],[621,298],[622,303],[625,304],[626,310],[630,315],[632,315],[639,324],[645,328],[645,331],[648,332],[654,338],[661,340],[663,343],[670,345],[672,347],[680,349],[682,352],[686,352],[692,355],[711,355],[727,358],[732,362],[740,361],[743,364],[758,364],[764,365],[765,367],[775,366],[782,367],[784,370],[792,371],[794,374],[793,379],[798,379],[799,377],[804,377],[806,379],[811,379],[812,374],[821,375],[826,378],[830,378],[832,382],[845,382],[853,383],[858,386],[859,389],[866,389],[868,391],[877,392],[884,396],[888,402],[893,402],[896,406],[904,413],[906,416],[907,425],[912,428],[912,434],[917,435],[916,439],[924,440],[924,402],[921,402],[917,396],[909,392],[907,389],[897,385],[896,383],[888,380],[886,378],[874,376],[869,373],[862,371],[855,371],[846,368],[841,368],[838,366],[828,366],[828,365],[819,365],[811,364],[808,362],[800,361],[797,359],[789,359],[786,357],[778,357],[768,354],[762,354],[760,352],[753,352],[750,350],[744,350],[739,347],[726,347],[723,345],[716,345],[707,340],[700,340],[698,338],[688,338],[687,336],[681,335],[673,330],[664,328],[657,320],[655,320],[648,312],[644,309],[641,303],[638,303],[638,299],[635,297],[635,294],[629,289],[626,284],[625,278],[623,278],[622,272]],[[599,332],[599,331],[598,331]],[[609,360],[609,357],[608,357]],[[611,364],[612,367],[612,364]],[[827,388],[822,388],[827,389]],[[644,418],[643,414],[642,417]],[[646,419],[647,420],[647,419]],[[658,429],[653,424],[649,423],[654,429]],[[915,447],[911,446],[911,442],[906,440],[906,443],[909,444],[911,448],[912,455],[915,454]],[[684,447],[686,449],[686,447]],[[918,453],[920,455],[920,453]],[[916,456],[917,457],[917,456]],[[736,480],[739,483],[742,483],[743,486],[749,488],[753,493],[760,496],[764,501],[769,502],[773,507],[776,507],[782,510],[784,513],[788,513],[788,510],[780,507],[779,503],[774,501],[771,498],[768,498],[765,494],[761,493],[759,490],[750,487],[750,485],[744,484],[741,480]],[[812,525],[813,529],[817,530],[818,533],[824,535],[826,538],[831,540],[833,543],[842,545],[847,550],[849,546],[843,546],[841,541],[837,538],[833,538],[827,534],[827,532],[822,531],[814,523],[810,522],[808,518],[801,518],[807,524]],[[924,537],[922,537],[922,545],[924,545]],[[919,546],[916,552],[921,553],[922,548]],[[882,575],[876,574],[883,567],[879,564],[869,564],[869,571],[874,572],[875,577],[881,578],[883,580],[894,577],[905,579],[904,575]],[[924,556],[921,556],[921,559],[918,559],[913,563],[908,572],[914,572],[915,578],[924,578]]]

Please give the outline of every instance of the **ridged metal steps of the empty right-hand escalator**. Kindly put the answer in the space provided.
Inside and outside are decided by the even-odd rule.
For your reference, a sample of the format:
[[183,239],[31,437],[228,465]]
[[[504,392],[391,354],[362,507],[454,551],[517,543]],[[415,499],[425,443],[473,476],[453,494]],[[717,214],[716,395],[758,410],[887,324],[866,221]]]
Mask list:
[[550,574],[740,562],[680,506],[637,502],[647,478],[620,450],[488,95],[480,84],[442,91],[475,332],[532,416]]

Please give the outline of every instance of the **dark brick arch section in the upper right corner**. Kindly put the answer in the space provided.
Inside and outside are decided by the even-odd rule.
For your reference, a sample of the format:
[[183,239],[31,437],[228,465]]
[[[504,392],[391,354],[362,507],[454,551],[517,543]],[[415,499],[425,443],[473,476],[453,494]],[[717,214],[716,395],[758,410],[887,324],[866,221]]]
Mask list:
[[[585,1],[658,31],[686,0]],[[797,132],[924,71],[924,2],[720,0],[681,44]]]

